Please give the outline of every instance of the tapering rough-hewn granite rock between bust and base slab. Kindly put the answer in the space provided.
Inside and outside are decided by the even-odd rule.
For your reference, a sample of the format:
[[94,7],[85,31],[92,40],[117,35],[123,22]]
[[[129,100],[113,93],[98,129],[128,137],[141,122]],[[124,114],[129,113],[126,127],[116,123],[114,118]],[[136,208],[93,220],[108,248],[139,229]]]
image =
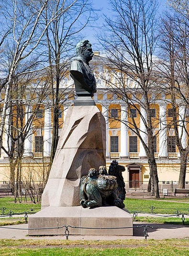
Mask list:
[[96,106],[70,107],[42,195],[48,206],[79,206],[80,179],[106,165],[106,123]]

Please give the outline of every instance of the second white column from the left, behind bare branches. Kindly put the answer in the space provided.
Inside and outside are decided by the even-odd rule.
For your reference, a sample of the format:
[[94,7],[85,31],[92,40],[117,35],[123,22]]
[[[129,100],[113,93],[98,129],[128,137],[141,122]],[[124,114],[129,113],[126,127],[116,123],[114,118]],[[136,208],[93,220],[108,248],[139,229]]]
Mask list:
[[27,136],[24,140],[24,153],[25,157],[31,157],[33,155],[32,150],[32,142],[33,142],[33,128],[32,128],[32,121],[29,122],[29,119],[32,115],[32,106],[26,105],[25,106],[25,125],[27,128]]

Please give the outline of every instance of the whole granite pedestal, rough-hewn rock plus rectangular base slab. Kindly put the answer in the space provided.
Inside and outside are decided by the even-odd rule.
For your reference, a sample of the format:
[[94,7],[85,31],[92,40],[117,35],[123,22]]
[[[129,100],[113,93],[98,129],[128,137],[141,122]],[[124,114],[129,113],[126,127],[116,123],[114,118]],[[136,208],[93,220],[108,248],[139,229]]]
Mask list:
[[90,168],[106,165],[105,153],[106,122],[100,110],[70,107],[42,195],[42,210],[29,216],[29,235],[62,235],[65,228],[57,227],[64,225],[80,227],[69,228],[70,234],[133,235],[133,220],[125,209],[80,206],[80,179]]

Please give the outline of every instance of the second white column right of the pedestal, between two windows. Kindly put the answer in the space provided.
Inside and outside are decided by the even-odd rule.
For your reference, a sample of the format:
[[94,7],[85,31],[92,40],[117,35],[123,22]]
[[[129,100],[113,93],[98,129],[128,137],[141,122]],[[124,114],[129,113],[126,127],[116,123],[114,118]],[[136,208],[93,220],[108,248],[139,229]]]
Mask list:
[[121,158],[128,158],[128,129],[124,122],[127,121],[128,111],[127,108],[121,106]]

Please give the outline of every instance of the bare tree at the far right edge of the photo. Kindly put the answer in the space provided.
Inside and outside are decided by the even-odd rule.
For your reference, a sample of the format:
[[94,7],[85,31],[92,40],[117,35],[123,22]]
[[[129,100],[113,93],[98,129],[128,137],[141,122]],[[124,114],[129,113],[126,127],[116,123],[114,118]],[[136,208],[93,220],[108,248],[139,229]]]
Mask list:
[[161,27],[160,50],[163,52],[159,69],[166,92],[171,96],[172,119],[167,130],[174,129],[175,142],[180,154],[179,188],[185,187],[189,154],[187,109],[189,106],[189,20],[179,14],[165,14]]

